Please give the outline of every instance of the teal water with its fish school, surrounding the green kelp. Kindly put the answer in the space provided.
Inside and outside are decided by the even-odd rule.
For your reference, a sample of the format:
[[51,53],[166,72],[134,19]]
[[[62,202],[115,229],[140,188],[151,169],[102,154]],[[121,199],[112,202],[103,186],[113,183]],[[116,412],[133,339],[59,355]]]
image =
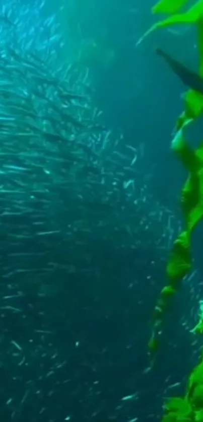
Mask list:
[[[184,88],[155,48],[197,64],[190,29],[136,47],[151,6],[1,3],[4,422],[158,420],[197,361],[201,228],[196,272],[146,373],[185,179],[170,152]],[[195,140],[201,122],[192,130]]]

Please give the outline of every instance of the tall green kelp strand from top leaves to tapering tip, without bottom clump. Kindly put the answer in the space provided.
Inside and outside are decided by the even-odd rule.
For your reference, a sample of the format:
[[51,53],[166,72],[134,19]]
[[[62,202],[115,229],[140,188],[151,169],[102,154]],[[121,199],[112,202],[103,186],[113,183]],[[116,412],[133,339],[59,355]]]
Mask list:
[[203,95],[201,90],[203,81],[200,78],[203,77],[203,0],[199,0],[190,9],[180,13],[181,9],[187,6],[187,3],[188,0],[160,0],[153,7],[152,12],[168,13],[170,16],[153,25],[138,42],[139,44],[147,35],[158,28],[185,23],[195,24],[199,54],[199,74],[195,74],[195,72],[189,71],[189,69],[163,52],[163,50],[158,50],[158,53],[165,58],[173,72],[178,75],[183,83],[188,87],[197,89],[199,92],[189,90],[185,94],[185,110],[177,119],[176,133],[171,143],[171,150],[189,173],[181,192],[184,230],[178,235],[169,255],[166,268],[168,283],[162,289],[155,306],[152,335],[148,344],[150,352],[157,349],[166,311],[178,292],[182,279],[191,270],[191,237],[196,225],[203,218],[203,143],[194,151],[185,140],[187,126],[203,115]]

